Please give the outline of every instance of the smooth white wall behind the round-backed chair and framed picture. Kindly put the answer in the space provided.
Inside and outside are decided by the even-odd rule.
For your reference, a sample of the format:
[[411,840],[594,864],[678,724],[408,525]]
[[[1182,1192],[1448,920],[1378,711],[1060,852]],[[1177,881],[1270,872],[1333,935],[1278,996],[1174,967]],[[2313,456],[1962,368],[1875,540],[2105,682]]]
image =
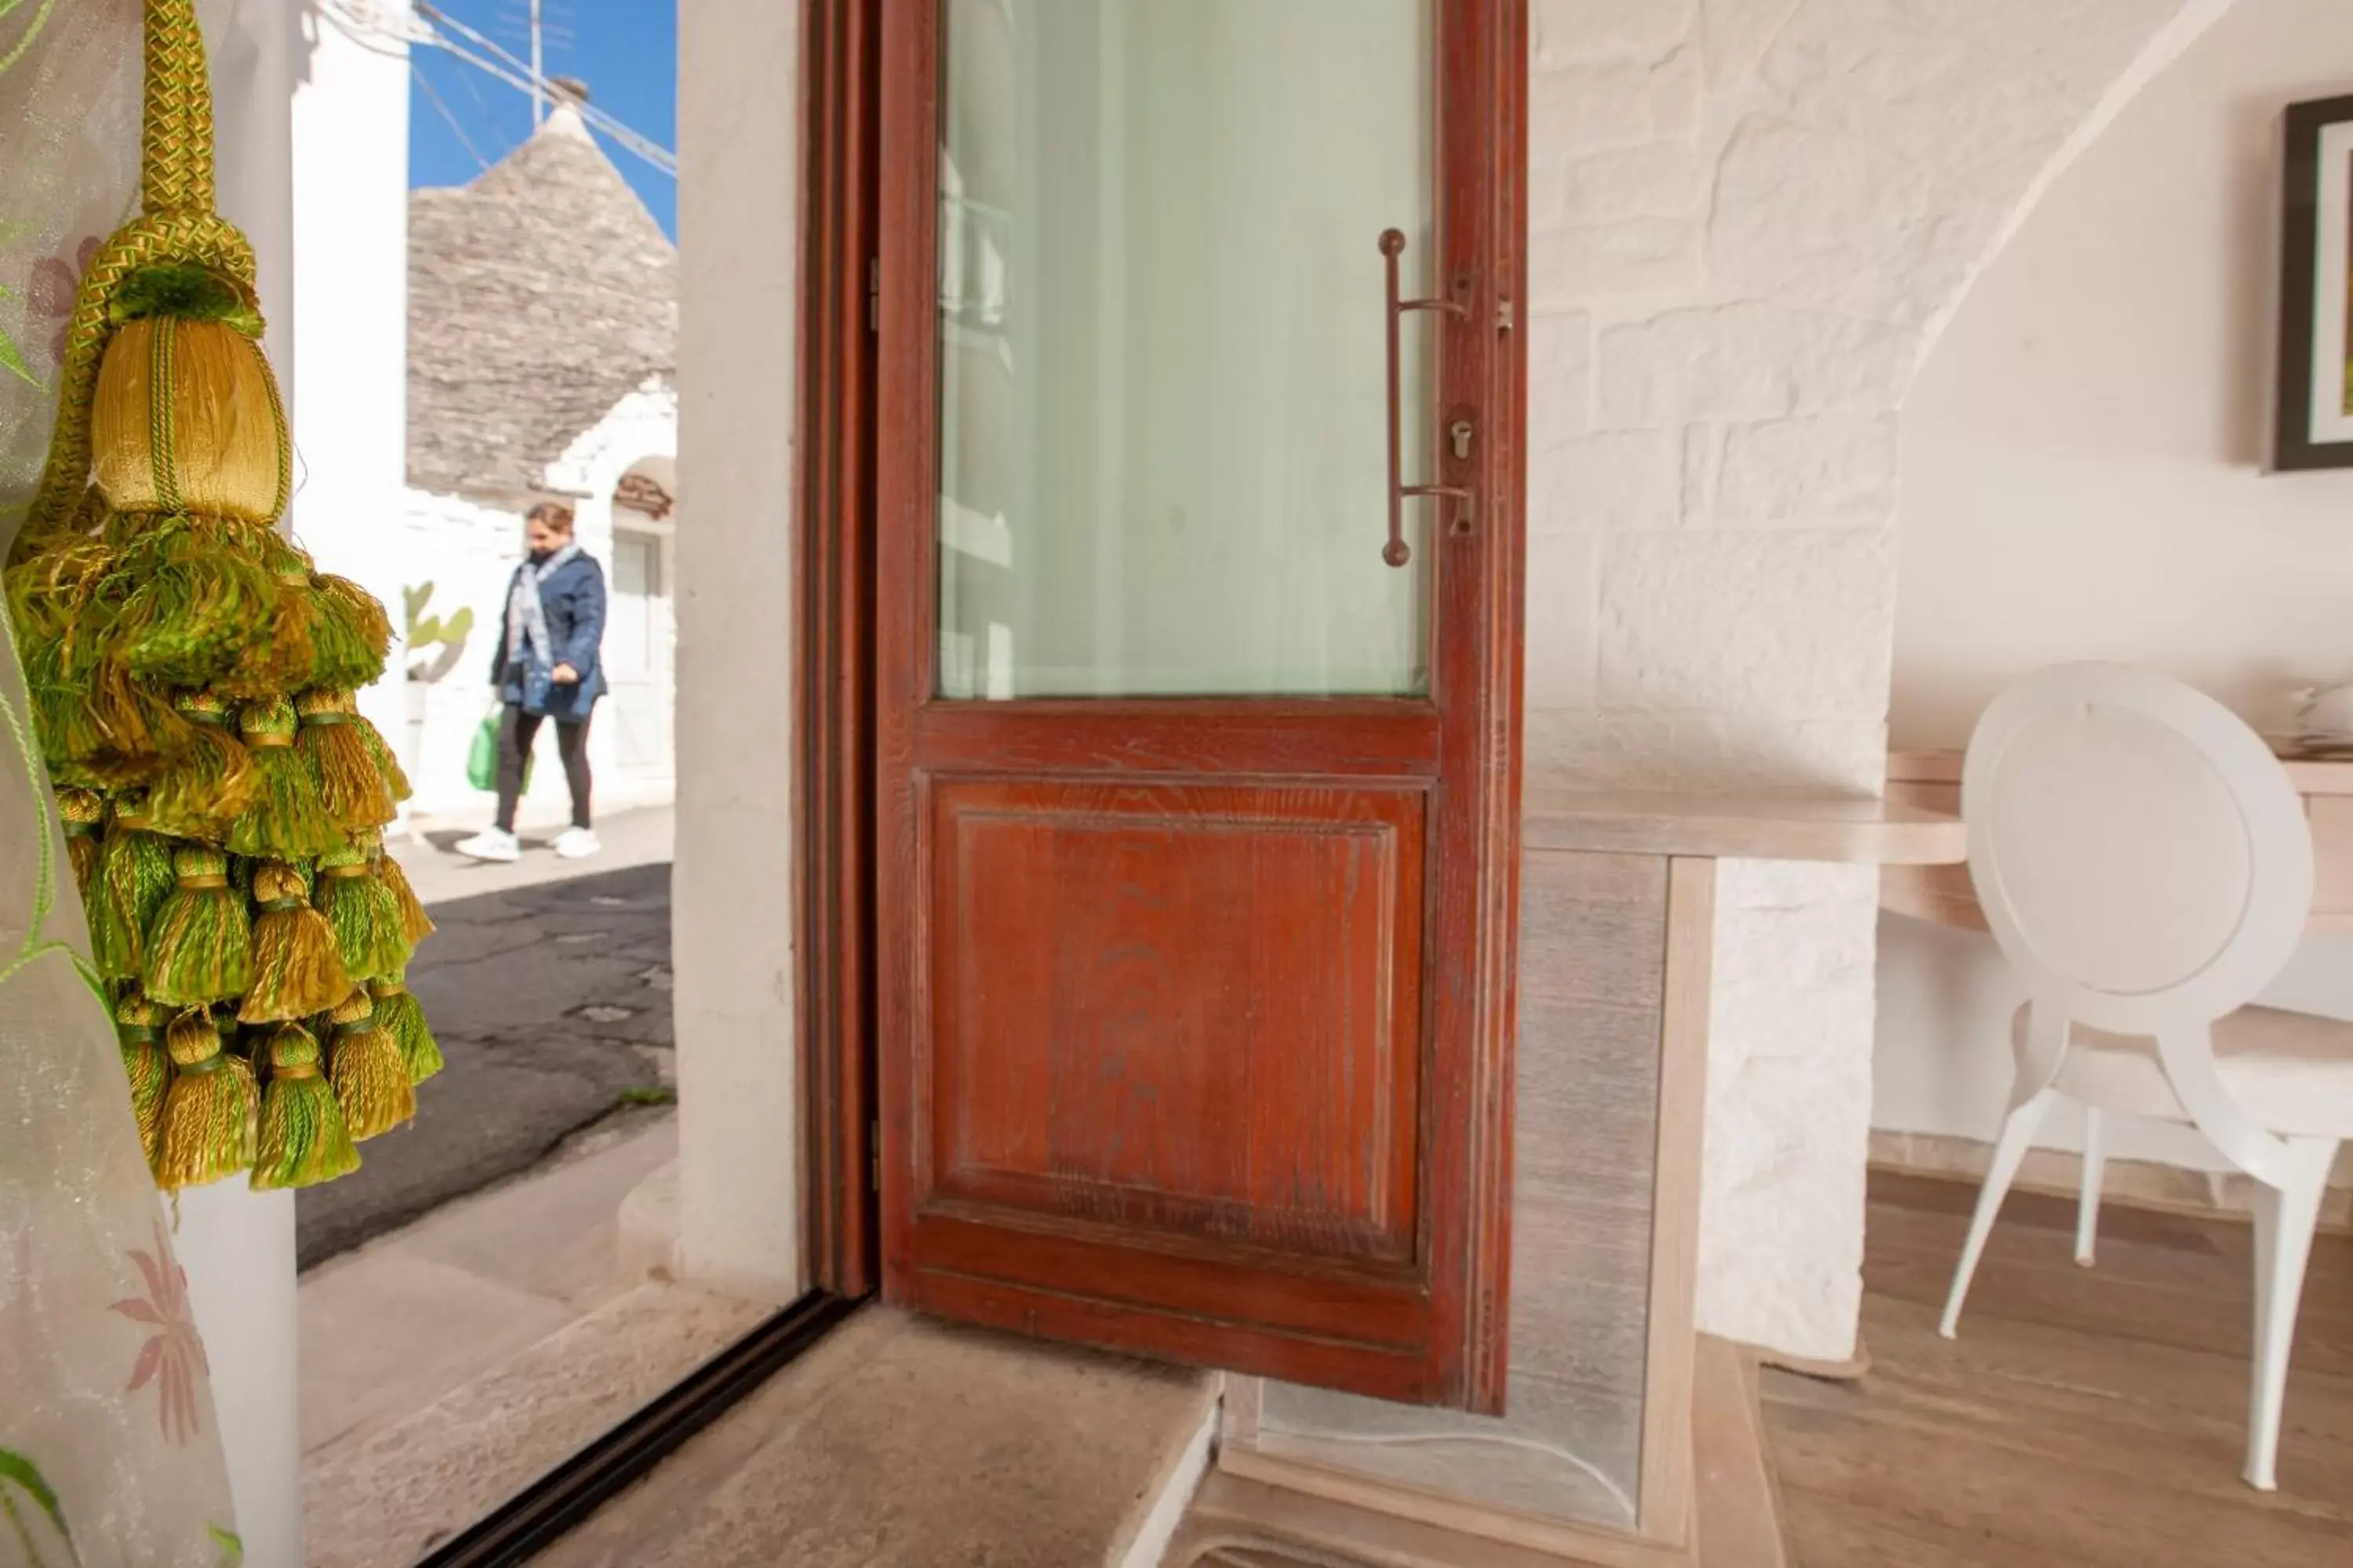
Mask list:
[[[2242,0],[1953,317],[1904,428],[1897,745],[1965,745],[2002,684],[2071,658],[2167,670],[2259,726],[2287,689],[2353,679],[2353,473],[2261,473],[2278,115],[2348,89],[2353,7]],[[2306,943],[2275,999],[2353,1018],[2348,959]],[[1993,943],[1887,917],[1878,969],[1875,1126],[1991,1138],[2017,1004]],[[2111,1147],[2219,1164],[2172,1128]]]

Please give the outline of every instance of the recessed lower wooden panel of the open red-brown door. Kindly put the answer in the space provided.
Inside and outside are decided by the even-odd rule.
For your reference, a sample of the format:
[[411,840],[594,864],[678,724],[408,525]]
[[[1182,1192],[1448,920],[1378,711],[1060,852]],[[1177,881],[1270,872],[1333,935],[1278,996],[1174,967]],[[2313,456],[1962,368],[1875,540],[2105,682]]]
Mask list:
[[1412,1265],[1419,790],[929,780],[934,1199]]

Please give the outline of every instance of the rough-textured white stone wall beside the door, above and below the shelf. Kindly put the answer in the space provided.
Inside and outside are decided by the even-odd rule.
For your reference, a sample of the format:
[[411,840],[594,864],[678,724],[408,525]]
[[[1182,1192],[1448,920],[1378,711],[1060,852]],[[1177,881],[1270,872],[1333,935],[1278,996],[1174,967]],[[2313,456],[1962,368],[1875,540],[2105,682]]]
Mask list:
[[[1899,411],[2057,167],[2228,0],[1534,0],[1532,780],[1875,792]],[[1701,1326],[1842,1359],[1875,882],[1727,865]]]

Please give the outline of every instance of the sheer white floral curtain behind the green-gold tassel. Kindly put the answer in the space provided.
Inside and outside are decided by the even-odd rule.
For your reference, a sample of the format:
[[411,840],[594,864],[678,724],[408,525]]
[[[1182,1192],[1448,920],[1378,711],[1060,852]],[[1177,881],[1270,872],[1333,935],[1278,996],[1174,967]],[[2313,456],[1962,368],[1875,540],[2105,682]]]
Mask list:
[[[5,545],[40,473],[80,266],[134,205],[139,0],[0,0],[0,61]],[[205,1347],[82,952],[82,910],[9,642],[0,656],[0,1566],[221,1568],[238,1547]]]

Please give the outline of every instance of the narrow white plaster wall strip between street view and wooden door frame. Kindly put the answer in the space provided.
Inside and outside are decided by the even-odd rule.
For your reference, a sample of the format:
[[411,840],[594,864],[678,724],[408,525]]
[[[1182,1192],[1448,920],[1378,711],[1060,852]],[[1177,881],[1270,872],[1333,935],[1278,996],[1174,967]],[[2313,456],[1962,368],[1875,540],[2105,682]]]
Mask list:
[[802,1284],[793,1041],[793,322],[798,7],[680,12],[680,1262]]

